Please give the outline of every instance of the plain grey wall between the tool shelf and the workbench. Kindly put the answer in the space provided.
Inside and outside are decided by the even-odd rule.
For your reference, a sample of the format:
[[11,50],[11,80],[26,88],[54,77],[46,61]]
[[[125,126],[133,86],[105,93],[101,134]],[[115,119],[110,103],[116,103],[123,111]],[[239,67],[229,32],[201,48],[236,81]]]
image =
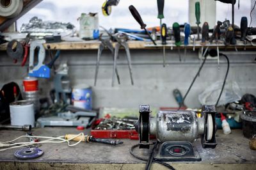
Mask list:
[[[131,50],[132,72],[134,86],[131,85],[127,60],[124,50],[120,51],[118,59],[118,72],[121,84],[115,81],[111,87],[112,58],[108,50],[102,54],[97,86],[93,86],[97,50],[67,50],[61,51],[61,57],[56,65],[68,61],[69,75],[73,85],[88,84],[93,86],[93,107],[134,107],[140,104],[150,104],[154,107],[177,106],[172,91],[179,88],[182,95],[186,93],[189,84],[193,80],[200,60],[198,52],[188,50],[186,61],[179,61],[175,50],[166,50],[166,67],[163,68],[162,50]],[[184,51],[181,50],[182,56]],[[242,93],[256,95],[256,65],[253,62],[256,52],[240,51],[225,52],[230,58],[230,72],[228,80],[236,81]],[[47,58],[49,59],[49,58]],[[191,89],[185,103],[189,107],[200,107],[198,94],[204,91],[212,83],[223,80],[227,69],[226,60],[221,58],[220,70],[217,61],[207,60],[200,77]],[[6,53],[0,52],[0,85],[15,81],[20,85],[27,75],[28,66],[21,67],[13,64],[12,59]],[[53,74],[52,74],[53,77]],[[49,94],[52,88],[51,79],[40,79],[40,91],[42,96]]]

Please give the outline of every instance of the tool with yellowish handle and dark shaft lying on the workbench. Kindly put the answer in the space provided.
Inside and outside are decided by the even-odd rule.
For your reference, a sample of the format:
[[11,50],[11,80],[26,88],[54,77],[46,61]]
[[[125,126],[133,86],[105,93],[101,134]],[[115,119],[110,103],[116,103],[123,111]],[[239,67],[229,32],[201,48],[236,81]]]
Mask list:
[[[67,134],[67,135],[65,135],[65,139],[71,139],[75,136],[76,135],[74,135],[74,134]],[[84,135],[84,137],[78,136],[78,137],[72,139],[72,141],[82,141],[84,143],[89,143],[89,142],[105,143],[105,144],[111,144],[111,145],[123,144],[123,142],[119,141],[119,140],[100,139],[100,138],[95,138],[92,135]]]

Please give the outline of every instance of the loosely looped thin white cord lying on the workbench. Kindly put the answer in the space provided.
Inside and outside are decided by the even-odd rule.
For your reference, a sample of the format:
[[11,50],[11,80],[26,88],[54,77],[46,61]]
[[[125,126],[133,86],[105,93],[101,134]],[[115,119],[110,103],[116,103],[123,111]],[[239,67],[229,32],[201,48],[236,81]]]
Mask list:
[[[77,143],[70,144],[70,141],[72,141],[72,139],[75,139],[76,137],[79,137],[79,136],[81,136],[81,139],[79,141],[77,141]],[[17,141],[18,139],[20,139],[22,137],[35,137],[35,138],[43,138],[43,139],[47,139],[47,140],[36,142],[36,143],[30,143],[30,142],[13,143],[13,141]],[[68,146],[70,146],[70,147],[76,146],[77,144],[81,143],[81,141],[83,141],[84,133],[74,135],[74,137],[71,137],[70,139],[63,139],[63,137],[65,137],[65,136],[61,135],[59,137],[48,137],[48,136],[37,136],[37,135],[21,135],[20,137],[17,137],[16,139],[13,139],[12,141],[0,142],[0,146],[3,145],[2,147],[12,146],[10,148],[4,148],[0,151],[9,150],[12,148],[19,148],[22,146],[30,146],[30,145],[34,145],[34,144],[43,144],[43,143],[66,143],[67,142]],[[59,141],[53,141],[53,140],[59,140]]]

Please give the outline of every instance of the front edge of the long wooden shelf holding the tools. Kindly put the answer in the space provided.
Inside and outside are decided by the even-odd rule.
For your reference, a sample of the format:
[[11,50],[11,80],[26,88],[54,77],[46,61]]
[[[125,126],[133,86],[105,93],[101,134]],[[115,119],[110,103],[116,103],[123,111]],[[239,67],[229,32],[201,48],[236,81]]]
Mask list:
[[[113,43],[115,45],[116,42]],[[157,45],[154,45],[152,42],[140,42],[140,41],[129,41],[128,45],[130,49],[163,49],[163,47],[166,47],[166,49],[177,49],[174,45],[173,41],[168,41],[166,45],[161,45],[160,41],[156,42]],[[92,41],[83,41],[83,42],[60,42],[60,43],[44,43],[45,49],[47,48],[47,45],[51,47],[51,49],[56,50],[96,50],[99,47],[100,42],[97,40]],[[6,50],[7,43],[4,43],[0,45],[0,50]],[[191,42],[189,45],[184,46],[181,45],[179,48],[184,49],[185,47],[187,49],[193,49],[195,46],[195,49],[200,49],[202,47],[219,47],[220,49],[234,49],[235,47],[237,49],[256,49],[255,46],[252,46],[250,42],[248,42],[246,45],[243,44],[243,42],[240,42],[237,40],[237,45],[224,45],[223,43],[207,43],[206,45],[202,46],[200,45],[200,42],[195,42],[195,45],[193,45],[193,42]],[[115,46],[114,46],[115,47]]]

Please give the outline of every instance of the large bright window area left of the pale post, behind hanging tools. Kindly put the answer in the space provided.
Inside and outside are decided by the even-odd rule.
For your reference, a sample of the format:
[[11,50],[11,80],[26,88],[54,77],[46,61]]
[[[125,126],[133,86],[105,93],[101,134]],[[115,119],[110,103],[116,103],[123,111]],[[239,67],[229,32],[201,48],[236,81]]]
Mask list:
[[[188,1],[165,1],[163,23],[166,23],[167,26],[172,26],[173,22],[179,22],[180,24],[188,22]],[[31,17],[37,16],[42,20],[70,22],[79,29],[77,18],[81,13],[97,12],[99,13],[99,25],[107,29],[110,27],[140,29],[140,25],[129,12],[128,7],[131,4],[140,12],[147,27],[159,26],[156,0],[120,0],[118,6],[112,6],[111,15],[108,17],[102,15],[101,6],[103,3],[104,0],[44,0],[17,21],[17,28],[19,30],[22,23],[28,23]]]

